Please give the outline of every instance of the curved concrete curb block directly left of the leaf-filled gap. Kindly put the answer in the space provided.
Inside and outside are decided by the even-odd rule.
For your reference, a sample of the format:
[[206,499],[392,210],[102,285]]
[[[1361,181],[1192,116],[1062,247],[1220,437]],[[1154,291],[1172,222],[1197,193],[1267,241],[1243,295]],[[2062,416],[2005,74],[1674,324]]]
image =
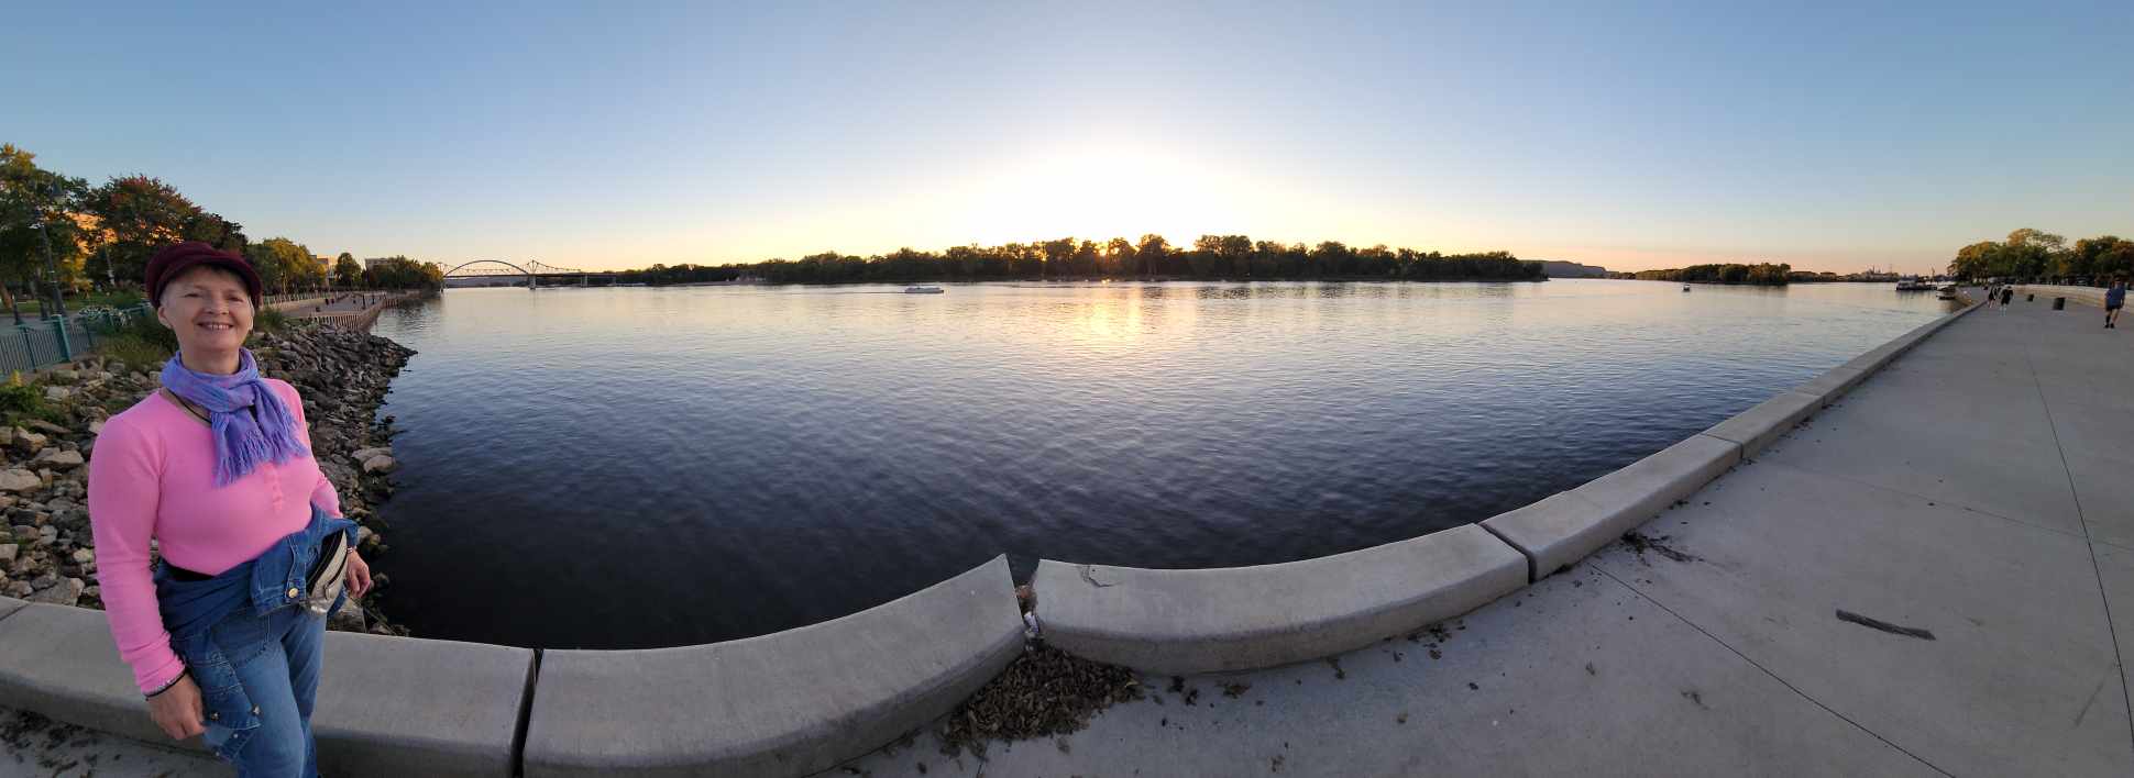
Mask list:
[[1020,652],[1007,556],[773,635],[546,650],[525,776],[805,776],[947,714]]

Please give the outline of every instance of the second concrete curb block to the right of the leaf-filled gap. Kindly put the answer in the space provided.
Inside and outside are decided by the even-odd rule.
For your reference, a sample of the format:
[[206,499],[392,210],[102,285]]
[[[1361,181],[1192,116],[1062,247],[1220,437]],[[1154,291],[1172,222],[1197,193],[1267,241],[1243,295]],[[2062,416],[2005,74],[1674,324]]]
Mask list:
[[1526,554],[1530,578],[1541,580],[1658,516],[1739,460],[1741,443],[1699,433],[1586,486],[1481,524]]

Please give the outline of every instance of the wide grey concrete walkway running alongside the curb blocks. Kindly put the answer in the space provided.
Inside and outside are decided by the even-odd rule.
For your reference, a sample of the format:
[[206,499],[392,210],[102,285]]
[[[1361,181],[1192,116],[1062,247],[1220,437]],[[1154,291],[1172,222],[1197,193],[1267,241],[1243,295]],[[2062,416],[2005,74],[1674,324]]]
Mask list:
[[[824,776],[2130,776],[2134,330],[2100,324],[1974,311],[1650,544],[1436,631],[1182,693],[1148,678],[1150,699],[984,761],[922,733]],[[128,755],[98,776],[220,774],[94,748]]]

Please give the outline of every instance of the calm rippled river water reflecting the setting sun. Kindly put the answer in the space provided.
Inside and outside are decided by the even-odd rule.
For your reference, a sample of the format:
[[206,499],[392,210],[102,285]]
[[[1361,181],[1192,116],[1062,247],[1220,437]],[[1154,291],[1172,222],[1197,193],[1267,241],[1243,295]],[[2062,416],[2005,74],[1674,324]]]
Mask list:
[[416,635],[734,639],[994,554],[1231,567],[1490,518],[1950,309],[1886,283],[448,290],[376,565]]

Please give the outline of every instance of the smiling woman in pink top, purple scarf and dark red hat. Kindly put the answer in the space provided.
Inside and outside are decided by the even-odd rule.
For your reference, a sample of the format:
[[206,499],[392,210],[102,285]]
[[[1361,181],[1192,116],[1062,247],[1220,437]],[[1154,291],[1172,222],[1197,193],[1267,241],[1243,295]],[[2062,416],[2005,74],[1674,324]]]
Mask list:
[[318,776],[327,614],[371,588],[354,522],[312,458],[303,396],[243,347],[262,298],[252,264],[177,243],[145,290],[177,356],[90,458],[111,639],[173,740],[203,735],[245,778]]

